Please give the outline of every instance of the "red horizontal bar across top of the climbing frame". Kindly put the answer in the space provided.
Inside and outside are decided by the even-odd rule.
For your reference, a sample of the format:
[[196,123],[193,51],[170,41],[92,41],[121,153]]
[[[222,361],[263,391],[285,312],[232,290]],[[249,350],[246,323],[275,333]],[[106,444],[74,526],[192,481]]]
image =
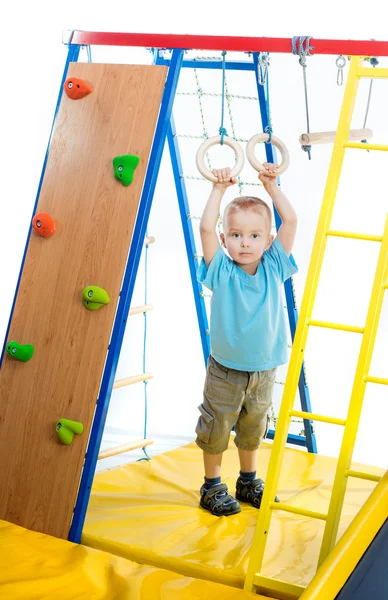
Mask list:
[[[91,46],[143,46],[145,48],[184,48],[237,52],[292,52],[291,38],[74,31],[70,43]],[[388,42],[375,40],[317,40],[311,38],[310,46],[313,47],[311,54],[388,56]]]

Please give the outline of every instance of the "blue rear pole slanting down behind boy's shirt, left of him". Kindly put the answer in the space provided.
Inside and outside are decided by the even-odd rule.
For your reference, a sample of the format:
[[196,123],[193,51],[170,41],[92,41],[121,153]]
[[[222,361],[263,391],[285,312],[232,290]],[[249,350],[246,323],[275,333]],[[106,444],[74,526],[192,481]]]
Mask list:
[[195,256],[195,240],[193,226],[190,219],[190,208],[187,197],[185,180],[182,178],[183,168],[179,152],[178,139],[176,138],[176,130],[174,118],[171,116],[170,126],[167,132],[167,140],[170,148],[172,170],[174,173],[175,187],[178,196],[179,211],[182,220],[183,235],[185,238],[187,259],[189,263],[191,284],[193,287],[195,307],[197,310],[197,318],[199,331],[201,335],[202,350],[205,360],[205,365],[210,353],[210,336],[209,325],[206,314],[205,301],[203,297],[202,285],[197,280],[198,260]]

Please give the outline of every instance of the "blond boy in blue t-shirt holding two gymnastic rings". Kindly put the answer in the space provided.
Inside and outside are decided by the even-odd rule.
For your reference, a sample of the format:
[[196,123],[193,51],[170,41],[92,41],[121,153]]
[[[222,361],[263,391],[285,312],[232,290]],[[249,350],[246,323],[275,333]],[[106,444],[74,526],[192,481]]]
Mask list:
[[[200,505],[218,516],[240,512],[237,500],[260,508],[264,482],[256,478],[257,449],[268,431],[276,367],[288,360],[281,288],[297,271],[289,258],[297,217],[277,185],[277,165],[264,167],[259,179],[282,219],[275,239],[269,206],[259,198],[236,198],[224,213],[220,237],[230,258],[224,253],[215,229],[225,190],[236,183],[230,169],[213,171],[218,182],[200,224],[204,258],[198,280],[213,295],[211,354],[196,442],[205,466]],[[237,500],[221,483],[222,454],[233,426],[240,459]]]

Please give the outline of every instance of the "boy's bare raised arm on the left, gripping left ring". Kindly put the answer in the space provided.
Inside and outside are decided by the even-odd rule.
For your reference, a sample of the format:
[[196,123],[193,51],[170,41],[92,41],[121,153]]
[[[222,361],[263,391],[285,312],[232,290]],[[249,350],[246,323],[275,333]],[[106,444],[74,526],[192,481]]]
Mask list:
[[213,174],[218,177],[218,183],[213,189],[202,213],[199,232],[201,235],[202,251],[206,266],[208,267],[217,252],[220,242],[216,234],[217,220],[220,213],[221,200],[225,190],[236,183],[236,178],[230,177],[230,169],[213,169]]

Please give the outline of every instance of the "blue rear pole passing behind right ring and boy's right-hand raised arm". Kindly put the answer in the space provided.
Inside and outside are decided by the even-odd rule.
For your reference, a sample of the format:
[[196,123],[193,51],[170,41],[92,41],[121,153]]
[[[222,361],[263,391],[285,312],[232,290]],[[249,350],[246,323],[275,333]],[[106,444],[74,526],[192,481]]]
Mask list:
[[[256,73],[256,84],[257,84],[257,93],[259,96],[259,103],[260,103],[261,121],[262,121],[262,125],[263,125],[263,131],[265,131],[266,127],[268,127],[270,125],[270,122],[269,122],[269,98],[268,98],[268,94],[266,92],[266,86],[260,85],[260,83],[259,83],[259,68],[260,68],[260,66],[259,66],[259,59],[258,59],[257,52],[253,53],[253,64],[254,64],[255,73]],[[268,74],[267,74],[267,76],[268,76]],[[276,163],[277,162],[276,161],[276,152],[275,152],[274,146],[272,146],[271,144],[264,144],[264,145],[265,145],[265,150],[266,150],[267,161]],[[275,207],[274,207],[274,214],[275,214],[276,230],[278,230],[282,221],[281,221],[281,218],[279,217],[279,214]],[[291,337],[292,337],[292,341],[294,341],[296,325],[298,322],[298,308],[296,306],[292,278],[287,279],[287,281],[284,284],[284,290],[285,290],[285,294],[286,294],[287,312],[288,312],[288,319],[290,322]],[[302,410],[305,412],[311,412],[310,391],[309,391],[307,381],[306,381],[306,373],[305,373],[305,364],[304,363],[302,365],[300,378],[299,378],[299,396],[300,396],[300,404],[301,404]],[[305,431],[305,442],[306,442],[305,445],[307,446],[308,451],[317,453],[318,450],[317,450],[317,442],[315,439],[315,434],[313,433],[311,422],[308,421],[307,419],[304,420],[304,431]],[[273,438],[274,432],[271,431],[269,433],[271,433],[271,437]],[[268,436],[268,437],[270,437],[270,436]],[[288,441],[290,443],[295,443],[295,441],[293,440],[293,437],[295,437],[295,436],[292,436],[292,435],[288,436]]]

